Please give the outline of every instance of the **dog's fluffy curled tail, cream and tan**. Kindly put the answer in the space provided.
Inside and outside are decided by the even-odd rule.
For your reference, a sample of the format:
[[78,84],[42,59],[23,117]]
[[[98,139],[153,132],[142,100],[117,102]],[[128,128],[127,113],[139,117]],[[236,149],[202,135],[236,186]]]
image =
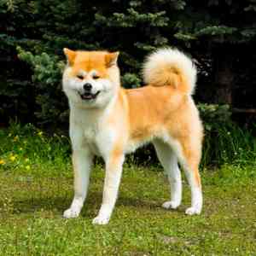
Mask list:
[[171,85],[186,94],[193,94],[196,68],[188,56],[177,49],[158,49],[148,55],[143,65],[143,78],[153,86]]

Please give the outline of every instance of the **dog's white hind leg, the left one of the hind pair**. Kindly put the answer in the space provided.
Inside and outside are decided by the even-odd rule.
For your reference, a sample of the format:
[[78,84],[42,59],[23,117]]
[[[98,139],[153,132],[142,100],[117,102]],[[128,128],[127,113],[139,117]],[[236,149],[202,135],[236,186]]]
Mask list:
[[182,201],[182,178],[177,166],[177,156],[170,145],[160,140],[154,141],[154,148],[171,187],[171,201],[166,201],[162,207],[176,209]]

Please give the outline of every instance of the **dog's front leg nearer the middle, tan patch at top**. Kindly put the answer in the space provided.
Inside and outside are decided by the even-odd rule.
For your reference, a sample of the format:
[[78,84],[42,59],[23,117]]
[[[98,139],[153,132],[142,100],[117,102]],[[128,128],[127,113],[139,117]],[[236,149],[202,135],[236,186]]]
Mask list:
[[124,154],[114,154],[106,160],[102,207],[97,217],[93,219],[93,224],[108,224],[117,200],[124,160]]

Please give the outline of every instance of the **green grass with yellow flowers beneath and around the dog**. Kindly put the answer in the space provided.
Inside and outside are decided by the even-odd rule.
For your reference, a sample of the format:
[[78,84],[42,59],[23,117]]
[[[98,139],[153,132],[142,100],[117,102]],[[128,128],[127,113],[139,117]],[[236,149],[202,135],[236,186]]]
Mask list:
[[107,226],[91,224],[102,201],[104,172],[97,163],[77,219],[62,212],[73,197],[67,137],[45,137],[31,125],[0,130],[0,255],[255,255],[256,172],[250,164],[202,170],[204,209],[184,214],[168,200],[158,165],[126,163],[119,200]]

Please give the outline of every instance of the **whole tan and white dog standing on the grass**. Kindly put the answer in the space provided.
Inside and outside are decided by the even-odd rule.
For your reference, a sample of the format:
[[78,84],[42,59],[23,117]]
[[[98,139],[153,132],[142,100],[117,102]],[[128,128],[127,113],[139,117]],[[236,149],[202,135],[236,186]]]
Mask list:
[[115,205],[125,154],[144,143],[154,148],[171,185],[165,208],[182,200],[183,167],[191,188],[189,215],[202,208],[201,160],[203,128],[192,93],[196,69],[177,49],[159,49],[143,66],[147,86],[125,90],[120,86],[118,52],[64,49],[67,67],[63,90],[70,106],[73,147],[74,197],[65,218],[76,218],[84,204],[94,155],[106,164],[102,207],[93,224],[108,224]]

